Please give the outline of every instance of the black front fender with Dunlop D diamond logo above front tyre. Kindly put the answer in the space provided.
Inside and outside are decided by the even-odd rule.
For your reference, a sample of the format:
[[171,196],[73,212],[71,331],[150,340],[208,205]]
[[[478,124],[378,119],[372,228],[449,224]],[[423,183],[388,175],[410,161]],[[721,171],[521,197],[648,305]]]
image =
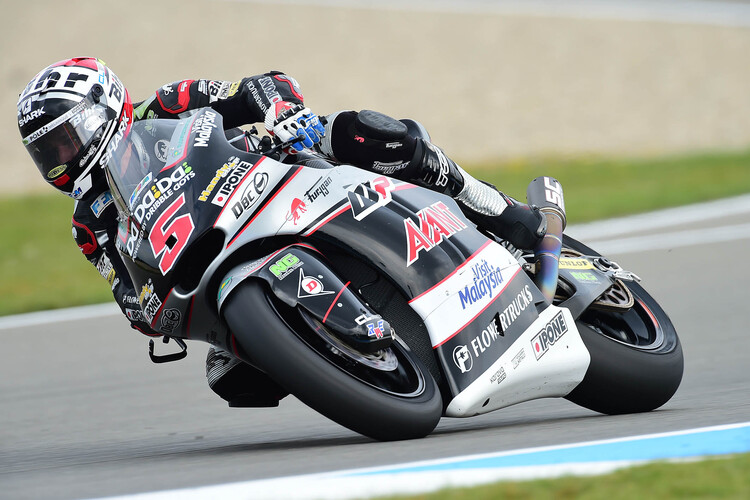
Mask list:
[[393,341],[390,324],[365,304],[350,283],[343,282],[310,245],[291,245],[233,268],[219,288],[219,312],[247,279],[265,281],[279,300],[304,309],[360,352],[371,353]]

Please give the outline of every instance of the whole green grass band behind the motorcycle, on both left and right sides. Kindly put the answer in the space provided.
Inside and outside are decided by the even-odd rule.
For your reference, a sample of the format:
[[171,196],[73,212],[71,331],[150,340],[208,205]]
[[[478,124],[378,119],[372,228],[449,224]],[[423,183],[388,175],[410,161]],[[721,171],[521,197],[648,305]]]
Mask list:
[[[464,167],[521,200],[534,177],[556,177],[570,224],[750,193],[750,151]],[[0,315],[112,300],[71,238],[72,211],[72,200],[52,192],[0,198]]]

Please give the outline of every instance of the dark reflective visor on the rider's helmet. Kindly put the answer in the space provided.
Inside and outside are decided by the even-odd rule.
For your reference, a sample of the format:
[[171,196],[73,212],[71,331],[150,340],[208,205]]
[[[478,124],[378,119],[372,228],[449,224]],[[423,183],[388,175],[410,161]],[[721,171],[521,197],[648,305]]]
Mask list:
[[72,167],[114,118],[103,97],[95,101],[89,94],[68,112],[24,138],[26,150],[47,181],[54,181]]

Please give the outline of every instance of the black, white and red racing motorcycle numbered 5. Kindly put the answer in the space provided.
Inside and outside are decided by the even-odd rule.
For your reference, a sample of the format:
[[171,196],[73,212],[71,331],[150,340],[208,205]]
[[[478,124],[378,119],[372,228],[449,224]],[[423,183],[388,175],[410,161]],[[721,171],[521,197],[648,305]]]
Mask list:
[[563,235],[555,179],[529,185],[548,219],[530,253],[447,196],[312,152],[278,161],[248,137],[256,149],[237,149],[204,109],[133,123],[109,158],[118,251],[143,317],[180,347],[152,341],[153,361],[209,342],[378,440],[544,397],[650,411],[677,390],[668,316],[635,274]]

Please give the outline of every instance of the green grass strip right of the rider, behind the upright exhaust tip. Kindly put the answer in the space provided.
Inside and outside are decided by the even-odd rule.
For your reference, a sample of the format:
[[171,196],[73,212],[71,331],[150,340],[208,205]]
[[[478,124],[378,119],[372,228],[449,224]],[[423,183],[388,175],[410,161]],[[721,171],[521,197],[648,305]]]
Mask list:
[[532,178],[557,178],[570,224],[750,192],[750,151],[642,159],[537,158],[502,169],[477,165],[471,171],[522,201]]

